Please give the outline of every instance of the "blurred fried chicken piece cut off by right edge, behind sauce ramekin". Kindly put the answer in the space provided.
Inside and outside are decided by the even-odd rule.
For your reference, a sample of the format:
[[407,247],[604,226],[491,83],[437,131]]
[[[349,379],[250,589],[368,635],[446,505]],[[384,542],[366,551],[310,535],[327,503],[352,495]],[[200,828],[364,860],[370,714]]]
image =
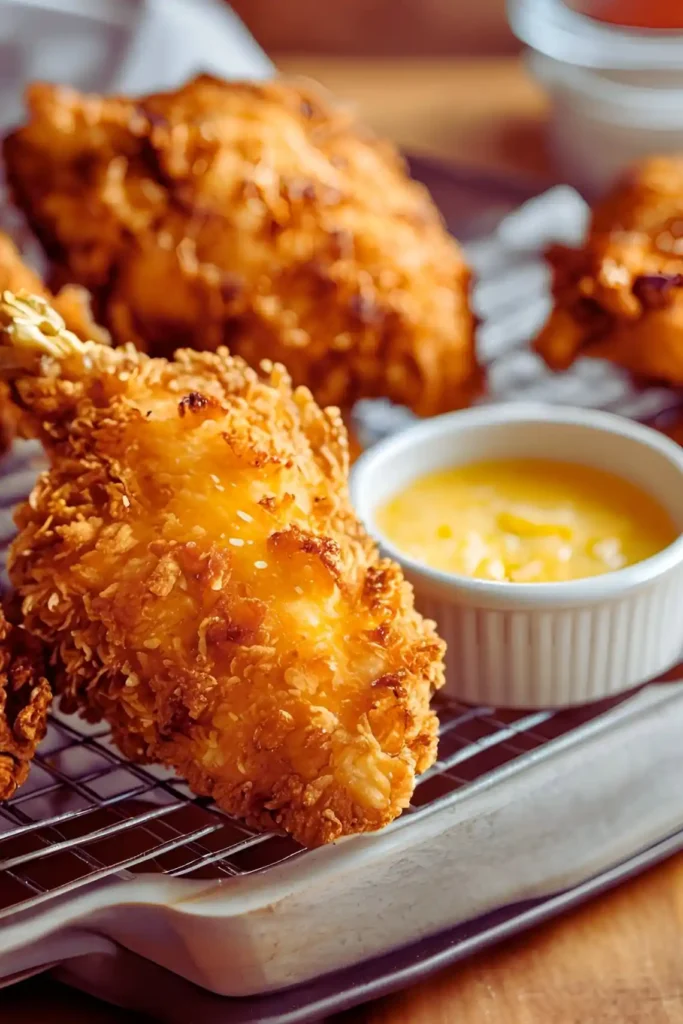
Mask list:
[[584,247],[555,246],[548,260],[555,304],[535,347],[552,369],[591,355],[683,385],[683,158],[633,168]]

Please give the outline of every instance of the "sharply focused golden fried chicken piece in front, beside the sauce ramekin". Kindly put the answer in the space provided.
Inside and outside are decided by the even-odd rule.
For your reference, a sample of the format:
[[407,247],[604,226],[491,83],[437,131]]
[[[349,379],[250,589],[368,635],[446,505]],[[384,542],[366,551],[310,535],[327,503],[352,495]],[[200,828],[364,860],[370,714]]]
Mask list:
[[354,516],[338,411],[225,349],[84,344],[38,298],[0,325],[50,461],[9,572],[66,707],[305,845],[391,821],[434,760],[443,644]]

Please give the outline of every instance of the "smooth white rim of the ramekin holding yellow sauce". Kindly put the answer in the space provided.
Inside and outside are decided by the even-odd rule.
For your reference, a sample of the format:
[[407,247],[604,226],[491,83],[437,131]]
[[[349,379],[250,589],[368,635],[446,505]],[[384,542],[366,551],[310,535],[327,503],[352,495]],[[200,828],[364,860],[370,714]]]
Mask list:
[[[407,569],[413,579],[421,578],[444,595],[458,597],[467,603],[480,600],[497,607],[531,607],[538,605],[585,605],[620,597],[630,591],[640,589],[658,580],[672,568],[683,563],[683,526],[672,544],[656,554],[640,562],[634,562],[621,569],[600,575],[585,577],[568,582],[552,583],[511,583],[472,579],[456,572],[433,568],[400,551],[379,529],[372,501],[372,480],[381,474],[383,465],[395,459],[414,445],[443,436],[457,436],[464,429],[487,427],[497,424],[554,423],[567,427],[581,426],[618,436],[625,443],[649,447],[663,455],[679,472],[683,480],[683,447],[676,441],[658,433],[642,423],[606,413],[572,406],[547,404],[543,402],[503,402],[459,410],[443,416],[424,420],[404,428],[396,434],[373,445],[365,452],[351,469],[350,496],[358,518],[371,537],[380,545],[382,553]],[[485,460],[485,454],[481,459]],[[515,458],[524,458],[520,453]],[[529,458],[535,458],[529,456]],[[478,461],[478,460],[477,460]],[[558,461],[568,461],[566,459]],[[578,465],[590,466],[590,462],[575,460]],[[454,463],[458,465],[458,463]],[[445,467],[444,467],[445,468]],[[618,475],[618,474],[617,474]],[[419,478],[416,474],[415,479]],[[647,490],[647,488],[641,488]],[[650,497],[654,497],[651,495]]]

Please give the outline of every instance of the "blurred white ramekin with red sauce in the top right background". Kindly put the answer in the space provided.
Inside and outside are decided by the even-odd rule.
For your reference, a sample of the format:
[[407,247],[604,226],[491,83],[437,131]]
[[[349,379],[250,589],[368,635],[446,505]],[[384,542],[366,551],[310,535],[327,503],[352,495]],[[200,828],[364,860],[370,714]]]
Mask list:
[[512,31],[530,48],[529,69],[550,95],[551,145],[564,181],[598,191],[641,157],[680,152],[683,31],[609,25],[599,20],[607,6],[599,0],[584,5],[596,17],[565,0],[507,6]]

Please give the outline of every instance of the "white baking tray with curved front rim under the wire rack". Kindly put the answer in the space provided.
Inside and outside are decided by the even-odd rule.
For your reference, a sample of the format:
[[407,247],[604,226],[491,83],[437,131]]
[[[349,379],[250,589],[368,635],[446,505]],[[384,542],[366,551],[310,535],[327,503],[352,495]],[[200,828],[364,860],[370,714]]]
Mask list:
[[[88,781],[88,758],[108,750],[97,740],[77,739],[70,757],[43,755],[41,784],[53,785],[51,796],[30,787],[10,805],[13,814],[34,813],[36,801],[51,800],[55,810],[68,803],[75,783],[47,776],[80,758],[79,787],[113,794],[97,805],[109,802],[121,818],[102,827],[101,810],[76,819],[67,811],[51,827],[41,819],[33,833],[25,826],[0,842],[0,900],[10,884],[15,893],[26,888],[0,919],[2,975],[91,952],[94,933],[220,994],[285,988],[569,889],[683,822],[679,685],[649,686],[583,725],[567,713],[508,725],[483,710],[444,709],[444,717],[452,753],[418,787],[416,809],[382,834],[314,852],[240,835],[213,810],[174,800],[172,787],[116,759]],[[544,742],[556,731],[564,734]],[[474,734],[480,738],[470,742]],[[134,798],[120,792],[123,772],[131,776],[126,792],[139,780]],[[92,833],[89,815],[100,824]],[[76,822],[86,833],[78,843],[70,836]],[[162,823],[167,838],[147,833]],[[52,833],[68,837],[68,851],[45,842]],[[13,853],[29,838],[45,845]],[[258,869],[259,858],[274,862]],[[81,878],[59,887],[74,866]],[[198,866],[204,878],[182,877]],[[143,873],[150,868],[158,873]]]

